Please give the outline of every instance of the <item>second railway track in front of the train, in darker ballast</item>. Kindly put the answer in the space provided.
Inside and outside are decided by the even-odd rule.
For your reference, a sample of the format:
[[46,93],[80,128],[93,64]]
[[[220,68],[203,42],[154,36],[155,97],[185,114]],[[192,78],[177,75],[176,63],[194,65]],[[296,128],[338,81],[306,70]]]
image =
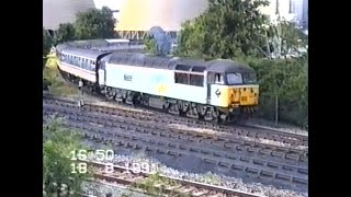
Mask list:
[[[49,108],[49,106],[47,106]],[[77,106],[70,106],[77,107]],[[55,107],[50,109],[55,111]],[[59,108],[56,108],[59,112]],[[68,114],[75,114],[76,109],[64,109]],[[135,130],[141,134],[152,134],[158,132],[157,136],[160,137],[170,137],[186,139],[189,142],[202,142],[202,143],[212,143],[217,144],[224,149],[231,149],[236,151],[247,151],[250,153],[258,153],[262,155],[273,155],[278,158],[283,158],[286,160],[292,160],[296,162],[307,162],[307,152],[306,150],[294,149],[290,147],[279,147],[274,144],[261,143],[258,141],[246,140],[238,137],[233,137],[231,135],[217,135],[217,134],[206,134],[206,132],[192,132],[184,131],[178,128],[170,128],[165,126],[165,124],[155,124],[155,121],[139,121],[140,118],[135,115],[120,114],[118,117],[110,116],[105,114],[91,114],[91,111],[86,111],[81,108],[80,112],[84,112],[75,117],[80,120],[89,120],[90,123],[100,124],[106,127],[115,126],[121,128],[126,128],[129,130]],[[131,118],[133,120],[131,120]],[[160,120],[159,120],[160,121]]]

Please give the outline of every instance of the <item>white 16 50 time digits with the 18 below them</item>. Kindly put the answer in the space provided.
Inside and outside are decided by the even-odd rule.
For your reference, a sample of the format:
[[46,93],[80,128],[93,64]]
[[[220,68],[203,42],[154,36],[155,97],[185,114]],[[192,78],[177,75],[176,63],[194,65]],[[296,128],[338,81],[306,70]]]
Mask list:
[[109,162],[113,161],[114,159],[114,151],[113,150],[95,150],[95,151],[88,151],[88,150],[72,150],[70,152],[70,160],[72,163],[71,173],[87,173],[88,172],[88,159],[94,158],[99,162]]

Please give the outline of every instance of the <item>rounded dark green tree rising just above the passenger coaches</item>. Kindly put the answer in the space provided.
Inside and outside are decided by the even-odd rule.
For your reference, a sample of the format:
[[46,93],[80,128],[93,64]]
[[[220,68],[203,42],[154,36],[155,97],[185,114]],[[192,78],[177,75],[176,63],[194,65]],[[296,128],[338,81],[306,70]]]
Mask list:
[[113,12],[107,7],[101,10],[91,9],[77,14],[76,35],[78,39],[114,38],[116,37],[115,24]]

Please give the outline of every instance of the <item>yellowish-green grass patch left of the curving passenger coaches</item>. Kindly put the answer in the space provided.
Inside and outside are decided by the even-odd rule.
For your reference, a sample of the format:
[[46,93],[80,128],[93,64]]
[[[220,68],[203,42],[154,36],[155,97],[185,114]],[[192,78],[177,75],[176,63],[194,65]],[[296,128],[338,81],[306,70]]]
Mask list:
[[78,89],[71,84],[65,82],[60,77],[57,65],[56,57],[54,55],[48,55],[46,66],[43,71],[44,79],[50,84],[49,93],[54,95],[73,95],[77,94]]

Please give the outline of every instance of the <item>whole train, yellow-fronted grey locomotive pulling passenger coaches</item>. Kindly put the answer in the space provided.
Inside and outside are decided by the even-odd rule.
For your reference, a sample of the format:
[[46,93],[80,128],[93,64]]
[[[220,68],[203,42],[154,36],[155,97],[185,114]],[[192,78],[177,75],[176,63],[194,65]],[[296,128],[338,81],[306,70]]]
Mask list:
[[193,59],[140,51],[128,42],[70,42],[56,47],[64,77],[131,105],[217,123],[250,115],[259,104],[257,73],[227,59]]

